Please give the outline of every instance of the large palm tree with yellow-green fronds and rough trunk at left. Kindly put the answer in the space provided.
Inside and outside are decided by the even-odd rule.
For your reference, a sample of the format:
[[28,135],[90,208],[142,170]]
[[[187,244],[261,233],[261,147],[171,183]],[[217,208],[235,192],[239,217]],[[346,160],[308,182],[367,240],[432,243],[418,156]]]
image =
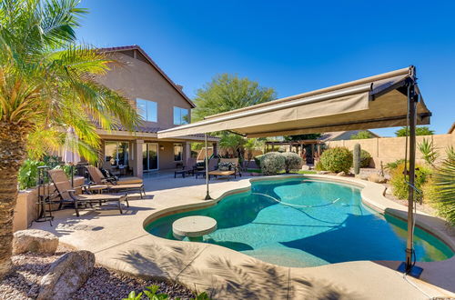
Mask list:
[[140,122],[125,97],[96,83],[115,62],[76,45],[75,27],[86,14],[77,5],[0,0],[0,278],[12,269],[17,175],[27,151],[42,154],[72,126],[80,154],[94,160],[96,125],[131,130]]

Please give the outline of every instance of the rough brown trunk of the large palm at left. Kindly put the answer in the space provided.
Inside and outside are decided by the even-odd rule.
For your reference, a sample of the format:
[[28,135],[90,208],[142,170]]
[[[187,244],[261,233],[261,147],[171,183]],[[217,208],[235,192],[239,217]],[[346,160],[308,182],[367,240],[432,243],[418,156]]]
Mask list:
[[0,121],[0,279],[12,270],[17,175],[25,159],[27,127]]

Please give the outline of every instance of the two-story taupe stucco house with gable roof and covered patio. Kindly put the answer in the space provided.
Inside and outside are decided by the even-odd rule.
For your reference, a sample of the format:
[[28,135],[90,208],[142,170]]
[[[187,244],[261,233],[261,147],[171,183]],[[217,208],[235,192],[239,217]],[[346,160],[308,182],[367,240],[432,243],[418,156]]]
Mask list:
[[[120,166],[142,176],[184,164],[190,155],[190,143],[203,141],[203,135],[157,139],[157,131],[191,121],[195,105],[182,86],[176,85],[138,45],[100,50],[121,64],[111,65],[111,70],[97,80],[130,99],[144,119],[135,133],[98,130],[104,165]],[[216,139],[209,141],[216,146]]]

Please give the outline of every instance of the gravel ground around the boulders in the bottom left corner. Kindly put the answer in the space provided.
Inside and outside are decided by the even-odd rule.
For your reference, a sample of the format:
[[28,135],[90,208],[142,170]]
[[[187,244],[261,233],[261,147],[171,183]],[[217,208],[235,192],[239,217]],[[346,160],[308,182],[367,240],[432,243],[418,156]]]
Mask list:
[[[59,246],[55,255],[22,254],[14,255],[15,273],[9,275],[0,283],[0,299],[35,299],[39,293],[41,278],[49,269],[50,264],[60,255],[71,251]],[[194,295],[182,285],[143,280],[126,275],[117,274],[106,268],[95,265],[92,275],[86,281],[73,299],[122,299],[129,292],[142,291],[148,285],[158,285],[158,293],[166,293],[170,299],[180,297],[189,299]]]

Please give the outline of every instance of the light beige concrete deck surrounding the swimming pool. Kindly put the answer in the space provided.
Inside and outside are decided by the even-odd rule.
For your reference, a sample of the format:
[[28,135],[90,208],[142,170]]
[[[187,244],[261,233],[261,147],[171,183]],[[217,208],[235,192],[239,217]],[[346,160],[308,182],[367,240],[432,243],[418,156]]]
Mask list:
[[[407,207],[382,196],[382,185],[347,177],[306,176],[364,186],[362,198],[367,205],[406,217]],[[217,199],[227,192],[247,190],[251,178],[272,177],[212,180],[211,195]],[[207,290],[214,299],[455,297],[455,256],[441,262],[418,263],[424,267],[421,280],[405,279],[395,271],[399,262],[357,261],[293,268],[264,263],[222,246],[172,241],[145,231],[144,225],[158,216],[214,205],[216,200],[201,200],[206,193],[204,184],[204,180],[194,177],[150,178],[145,180],[147,197],[131,200],[124,215],[118,214],[115,205],[81,210],[80,217],[67,209],[56,212],[53,226],[35,223],[32,227],[53,232],[63,244],[92,251],[96,262],[108,268],[142,277],[174,279],[189,288]],[[419,213],[417,224],[455,248],[455,237],[439,218]]]

